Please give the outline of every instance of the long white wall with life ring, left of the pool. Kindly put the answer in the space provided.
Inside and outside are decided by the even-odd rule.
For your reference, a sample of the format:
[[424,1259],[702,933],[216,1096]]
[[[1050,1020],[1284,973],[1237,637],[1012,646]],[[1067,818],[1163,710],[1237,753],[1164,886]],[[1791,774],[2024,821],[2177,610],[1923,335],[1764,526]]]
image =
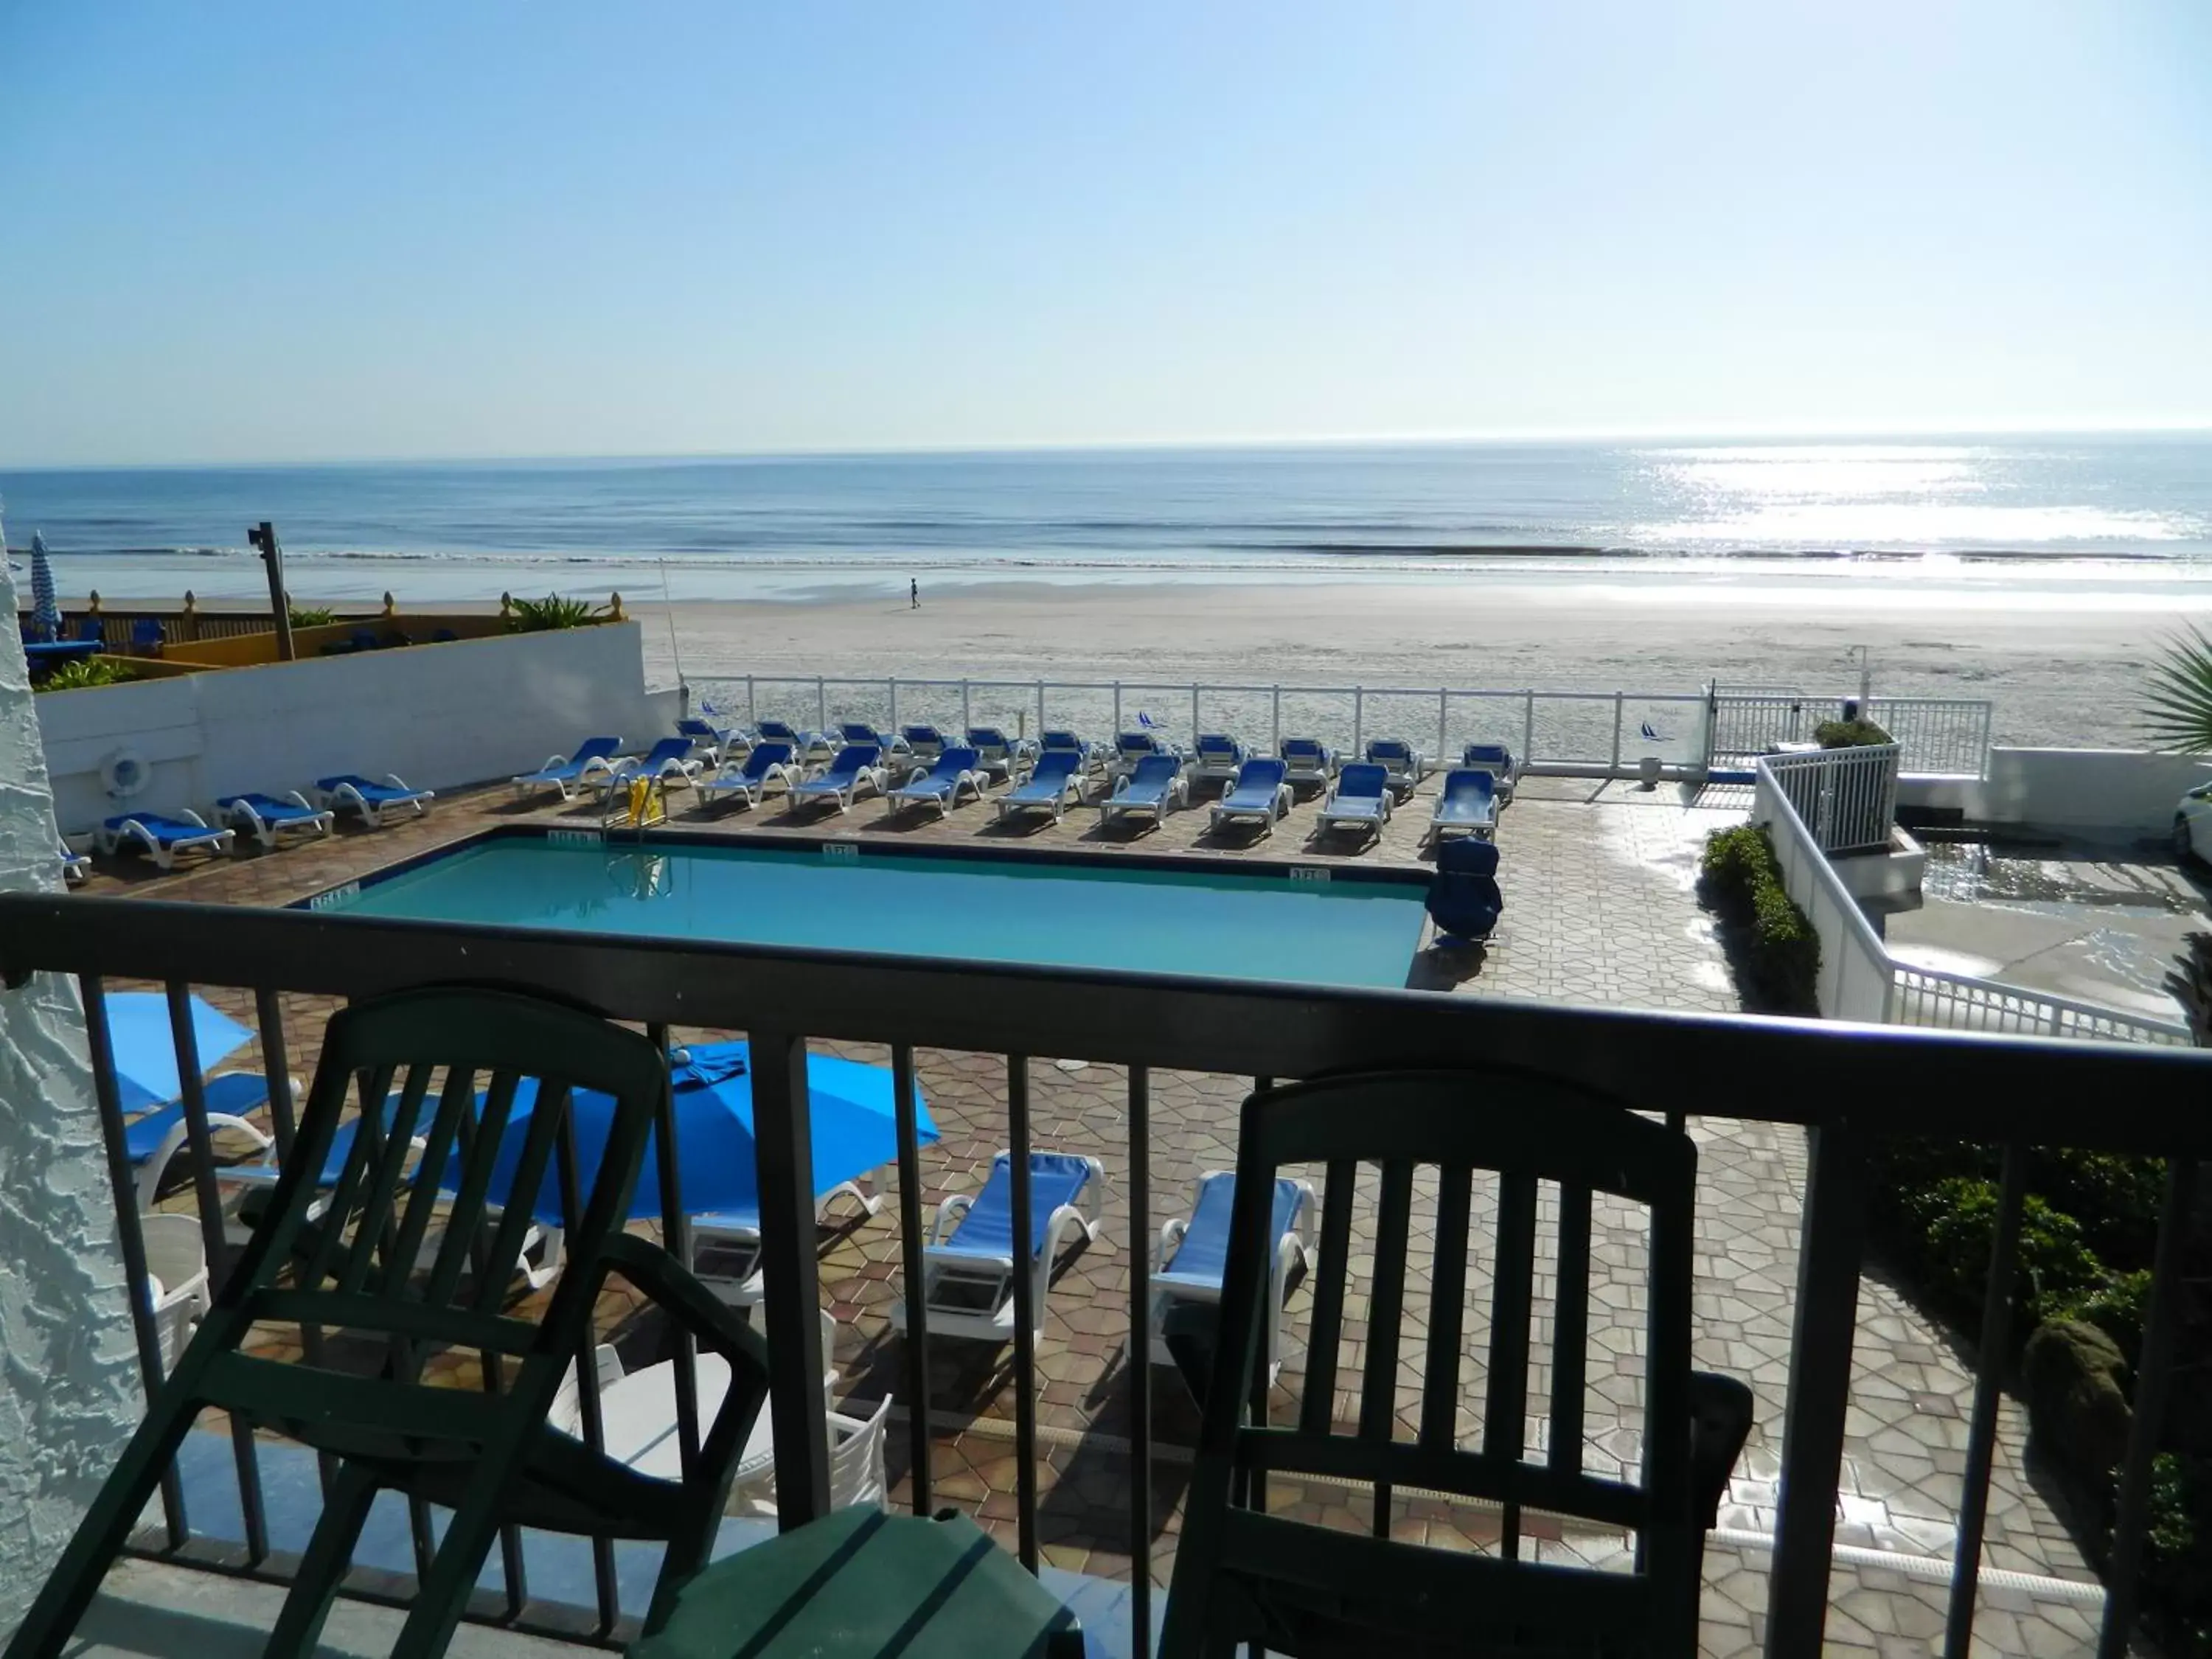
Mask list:
[[[599,732],[644,750],[675,732],[677,706],[646,690],[639,628],[619,622],[46,692],[38,717],[75,834],[124,807],[210,814],[217,796],[307,790],[334,772],[449,790]],[[100,772],[119,748],[153,765],[124,803]]]

